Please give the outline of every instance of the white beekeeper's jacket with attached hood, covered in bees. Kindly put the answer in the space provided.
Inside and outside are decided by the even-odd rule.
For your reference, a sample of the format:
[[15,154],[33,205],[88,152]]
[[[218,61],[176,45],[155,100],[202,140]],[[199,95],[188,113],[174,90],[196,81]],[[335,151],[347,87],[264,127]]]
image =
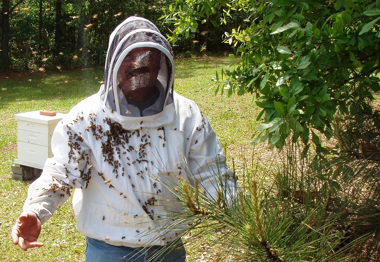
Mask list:
[[[143,116],[120,94],[116,77],[136,47],[161,51],[159,98]],[[75,188],[82,234],[116,246],[166,245],[179,234],[165,229],[175,221],[171,211],[184,209],[176,202],[179,180],[200,182],[216,195],[215,174],[222,172],[235,187],[214,130],[195,102],[173,91],[173,77],[170,45],[150,21],[130,17],[119,25],[110,37],[104,84],[55,128],[54,157],[30,185],[24,210],[44,223]]]

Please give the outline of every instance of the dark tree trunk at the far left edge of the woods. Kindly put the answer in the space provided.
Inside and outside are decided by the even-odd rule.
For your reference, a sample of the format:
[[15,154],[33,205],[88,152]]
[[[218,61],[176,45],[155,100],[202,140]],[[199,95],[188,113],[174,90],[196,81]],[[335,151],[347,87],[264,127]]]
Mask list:
[[9,0],[3,0],[3,9],[2,12],[2,51],[1,60],[2,60],[2,69],[9,68]]

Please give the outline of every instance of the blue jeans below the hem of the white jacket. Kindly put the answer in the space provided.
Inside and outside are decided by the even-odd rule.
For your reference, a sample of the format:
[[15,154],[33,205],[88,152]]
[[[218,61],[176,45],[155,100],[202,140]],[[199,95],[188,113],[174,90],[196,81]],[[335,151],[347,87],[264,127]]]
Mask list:
[[162,254],[165,246],[112,246],[104,241],[86,237],[86,262],[185,262],[186,250],[182,240],[174,241],[178,242],[177,245]]

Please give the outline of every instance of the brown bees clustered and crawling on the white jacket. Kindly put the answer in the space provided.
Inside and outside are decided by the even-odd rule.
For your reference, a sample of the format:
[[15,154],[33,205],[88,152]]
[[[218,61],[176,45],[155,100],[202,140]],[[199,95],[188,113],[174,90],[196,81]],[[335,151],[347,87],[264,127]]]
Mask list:
[[[124,177],[125,175],[125,169],[124,166],[122,166],[122,162],[120,160],[121,157],[127,160],[128,166],[139,165],[141,163],[150,163],[150,165],[153,165],[152,161],[148,161],[146,159],[146,150],[151,146],[150,136],[146,133],[142,133],[142,127],[136,130],[125,130],[119,123],[114,122],[107,117],[105,117],[101,121],[97,121],[97,115],[95,113],[91,113],[87,118],[84,118],[82,112],[81,116],[78,116],[71,123],[66,125],[66,133],[68,135],[69,147],[68,164],[75,163],[78,164],[78,167],[79,164],[81,164],[81,166],[84,166],[82,170],[74,168],[75,171],[79,172],[79,177],[83,181],[84,188],[87,188],[89,185],[91,179],[91,168],[93,165],[90,163],[90,157],[87,151],[82,149],[81,145],[82,142],[84,142],[84,137],[82,136],[81,131],[73,131],[79,130],[77,128],[74,128],[74,125],[79,121],[86,121],[88,124],[84,131],[92,134],[95,140],[100,140],[101,154],[103,155],[104,162],[111,165],[112,173],[114,173],[115,179],[120,177],[119,174],[121,175],[121,177]],[[198,131],[200,131],[206,125],[206,121],[203,115],[201,121],[201,125],[197,127]],[[99,122],[103,124],[99,124]],[[142,124],[142,122],[140,124]],[[165,129],[161,127],[158,128],[158,130],[162,130],[162,133],[160,136],[158,136],[158,138],[160,140],[166,141]],[[139,140],[136,139],[136,137],[139,138]],[[130,139],[133,139],[133,144],[128,144],[130,143]],[[139,144],[138,147],[136,147],[136,141],[139,141],[137,142],[137,144]],[[165,143],[162,143],[162,146],[165,147]],[[176,163],[176,166],[178,169],[181,169],[178,163]],[[136,173],[136,175],[140,176],[141,179],[144,179],[144,176],[146,176],[146,174],[149,174],[150,172],[149,165],[147,166],[146,164],[144,164],[143,166],[135,167],[136,170],[139,170]],[[66,177],[68,177],[70,170],[67,167],[64,167],[64,169],[66,171]],[[109,177],[107,177],[106,179],[105,175],[101,172],[98,172],[98,175],[103,179],[104,183],[109,186],[109,188],[114,188],[114,186],[112,185],[112,179],[110,180]],[[131,179],[130,174],[128,174],[127,177],[128,179]],[[53,181],[55,181],[55,183],[50,184],[50,188],[44,190],[52,191],[53,193],[59,190],[60,192],[62,192],[61,196],[70,195],[71,186],[65,185],[65,183],[57,183],[56,179],[53,179]],[[74,185],[75,182],[76,179],[73,179]],[[156,190],[156,195],[159,195],[162,192],[160,189],[157,188],[156,182],[154,182],[152,186]],[[131,188],[135,188],[135,185],[131,184]],[[174,191],[177,192],[177,188],[175,188]],[[120,192],[119,195],[123,196],[123,198],[127,198],[127,195],[122,192]],[[141,202],[142,204],[142,201],[139,200],[139,202]],[[154,206],[155,202],[157,202],[157,199],[155,197],[151,197],[144,201],[144,204],[142,204],[142,209],[149,215],[149,217],[152,220],[154,220],[154,210],[149,208],[149,206]],[[102,220],[105,220],[105,217],[102,217]]]

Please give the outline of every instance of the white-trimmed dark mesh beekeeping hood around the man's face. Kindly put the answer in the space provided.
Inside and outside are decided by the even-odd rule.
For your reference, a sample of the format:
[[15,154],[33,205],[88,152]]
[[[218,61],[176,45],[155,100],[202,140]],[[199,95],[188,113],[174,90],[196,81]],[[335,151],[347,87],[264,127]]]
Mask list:
[[[155,79],[159,96],[154,109],[144,112],[140,112],[135,105],[128,103],[119,88],[120,80],[117,77],[124,58],[133,49],[141,47],[155,48],[161,53],[160,69]],[[128,118],[158,116],[165,107],[173,104],[173,86],[174,60],[169,42],[149,20],[136,16],[128,17],[112,31],[109,37],[103,84],[100,86],[103,106],[111,110],[112,115],[116,113]]]

